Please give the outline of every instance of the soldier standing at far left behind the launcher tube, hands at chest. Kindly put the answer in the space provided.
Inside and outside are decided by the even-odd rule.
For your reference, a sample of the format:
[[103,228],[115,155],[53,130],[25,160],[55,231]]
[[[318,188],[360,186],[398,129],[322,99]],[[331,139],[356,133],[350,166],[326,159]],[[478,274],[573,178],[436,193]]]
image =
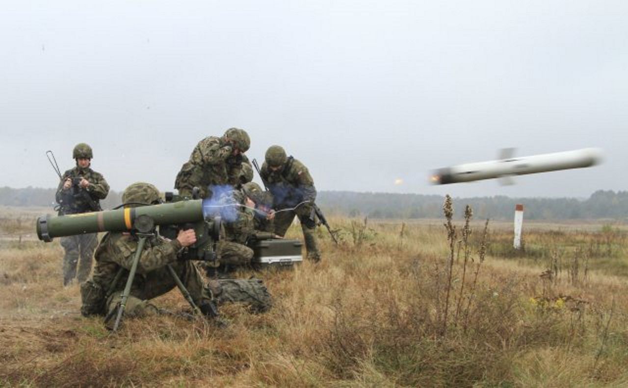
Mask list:
[[[72,151],[76,167],[67,170],[57,188],[59,215],[100,211],[100,199],[109,193],[109,185],[104,177],[90,168],[92,148],[79,143]],[[63,285],[68,285],[76,277],[81,283],[87,280],[92,271],[92,255],[96,248],[97,234],[87,233],[61,238],[65,249],[63,256]],[[78,266],[78,272],[77,272]]]

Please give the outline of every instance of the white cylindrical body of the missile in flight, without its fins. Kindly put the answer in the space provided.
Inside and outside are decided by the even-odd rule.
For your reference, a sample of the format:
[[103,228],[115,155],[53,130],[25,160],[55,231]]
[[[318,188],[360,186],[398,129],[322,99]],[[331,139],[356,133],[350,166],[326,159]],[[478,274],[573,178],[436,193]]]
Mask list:
[[602,151],[587,148],[553,154],[541,154],[487,162],[467,163],[438,169],[431,176],[433,184],[482,181],[516,175],[591,167],[602,160]]

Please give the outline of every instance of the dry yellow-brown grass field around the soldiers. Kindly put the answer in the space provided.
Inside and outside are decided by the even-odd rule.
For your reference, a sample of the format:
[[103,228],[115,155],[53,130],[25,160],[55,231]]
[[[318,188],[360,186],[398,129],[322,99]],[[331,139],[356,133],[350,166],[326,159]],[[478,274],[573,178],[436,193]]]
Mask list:
[[[514,251],[509,223],[456,222],[448,239],[444,218],[332,218],[341,243],[320,229],[322,263],[256,274],[270,312],[110,335],[62,286],[58,241],[33,239],[36,214],[0,209],[0,386],[628,386],[619,226],[524,224]],[[155,304],[186,309],[176,290]]]

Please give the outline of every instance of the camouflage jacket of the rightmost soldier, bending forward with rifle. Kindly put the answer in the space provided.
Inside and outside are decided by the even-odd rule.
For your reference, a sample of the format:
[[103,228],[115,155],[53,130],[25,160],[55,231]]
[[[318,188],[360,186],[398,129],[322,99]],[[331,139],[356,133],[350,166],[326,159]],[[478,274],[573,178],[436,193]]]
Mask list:
[[[315,201],[316,187],[308,168],[299,160],[288,158],[283,169],[273,171],[266,162],[262,165],[260,175],[273,194],[273,209],[295,207],[303,201]],[[311,206],[301,205],[296,213],[309,214]]]

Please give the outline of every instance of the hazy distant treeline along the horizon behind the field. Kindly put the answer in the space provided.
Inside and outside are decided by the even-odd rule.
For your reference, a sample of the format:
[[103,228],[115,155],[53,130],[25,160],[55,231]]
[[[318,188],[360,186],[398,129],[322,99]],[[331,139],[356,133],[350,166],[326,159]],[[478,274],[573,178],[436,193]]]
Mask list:
[[[317,203],[328,214],[369,218],[440,218],[444,197],[421,194],[322,191]],[[0,187],[0,205],[54,206],[55,189]],[[121,193],[110,191],[103,209],[121,204]],[[523,204],[526,219],[600,219],[628,221],[628,191],[594,192],[588,199],[510,198],[506,196],[455,198],[457,218],[469,204],[474,218],[512,219],[515,204]]]

